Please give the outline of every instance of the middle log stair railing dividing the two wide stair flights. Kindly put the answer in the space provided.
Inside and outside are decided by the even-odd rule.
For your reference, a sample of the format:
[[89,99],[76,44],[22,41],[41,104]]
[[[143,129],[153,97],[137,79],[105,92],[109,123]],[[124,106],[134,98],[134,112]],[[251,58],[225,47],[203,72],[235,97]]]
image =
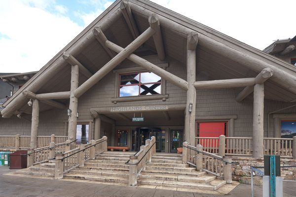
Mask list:
[[153,154],[156,152],[155,137],[152,136],[151,140],[147,139],[145,145],[140,147],[135,155],[130,156],[130,159],[125,162],[129,164],[129,185],[136,186],[137,179],[142,170],[146,169],[146,163],[151,162]]

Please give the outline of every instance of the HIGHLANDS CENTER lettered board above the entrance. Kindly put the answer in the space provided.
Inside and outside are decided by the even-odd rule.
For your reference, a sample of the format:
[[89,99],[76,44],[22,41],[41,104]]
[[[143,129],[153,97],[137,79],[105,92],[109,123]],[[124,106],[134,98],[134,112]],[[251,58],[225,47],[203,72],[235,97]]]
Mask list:
[[145,105],[132,107],[111,107],[111,112],[144,112],[144,111],[165,111],[167,105]]

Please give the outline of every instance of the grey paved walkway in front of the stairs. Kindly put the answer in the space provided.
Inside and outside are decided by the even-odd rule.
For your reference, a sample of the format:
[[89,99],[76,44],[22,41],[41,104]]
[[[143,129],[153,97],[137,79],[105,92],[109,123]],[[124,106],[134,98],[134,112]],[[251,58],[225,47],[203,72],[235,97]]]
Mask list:
[[[201,194],[196,191],[177,191],[177,189],[174,191],[109,185],[85,180],[54,180],[5,175],[12,174],[14,171],[9,170],[7,166],[0,166],[0,197],[222,197],[221,194]],[[254,196],[262,197],[262,187],[255,186]],[[295,196],[296,182],[285,181],[284,197]],[[251,197],[251,186],[240,184],[225,197]]]

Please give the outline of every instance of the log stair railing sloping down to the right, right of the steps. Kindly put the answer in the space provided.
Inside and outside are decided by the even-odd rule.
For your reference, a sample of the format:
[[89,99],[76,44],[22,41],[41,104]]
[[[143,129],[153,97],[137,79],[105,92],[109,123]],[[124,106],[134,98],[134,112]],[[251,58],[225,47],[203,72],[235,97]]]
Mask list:
[[205,171],[220,178],[226,183],[232,182],[232,164],[238,164],[231,161],[230,156],[218,156],[202,150],[202,146],[197,144],[191,146],[188,142],[183,143],[182,162],[196,167],[198,171]]

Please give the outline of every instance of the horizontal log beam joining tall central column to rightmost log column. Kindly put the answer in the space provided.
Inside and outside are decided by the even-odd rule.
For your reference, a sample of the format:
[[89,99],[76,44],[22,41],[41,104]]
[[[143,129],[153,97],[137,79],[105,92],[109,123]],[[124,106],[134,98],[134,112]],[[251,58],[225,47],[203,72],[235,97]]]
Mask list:
[[244,87],[255,84],[255,78],[242,78],[242,79],[222,79],[222,80],[206,80],[195,81],[194,87],[196,89],[218,89],[230,87]]

